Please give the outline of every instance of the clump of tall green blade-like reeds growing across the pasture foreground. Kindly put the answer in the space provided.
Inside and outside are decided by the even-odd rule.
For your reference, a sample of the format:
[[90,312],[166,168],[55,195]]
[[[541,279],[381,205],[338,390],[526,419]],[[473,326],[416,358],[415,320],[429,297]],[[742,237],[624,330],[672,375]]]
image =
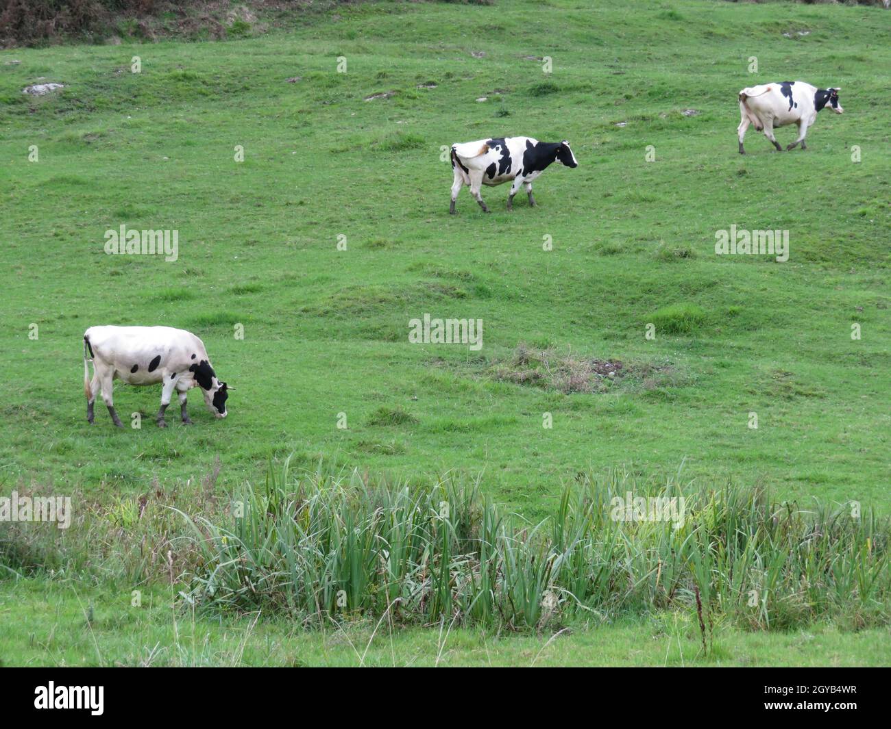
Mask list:
[[[622,521],[614,498],[684,498],[683,522]],[[887,624],[891,526],[871,511],[779,503],[760,488],[584,475],[538,523],[446,474],[426,487],[358,472],[292,473],[233,493],[222,524],[187,517],[208,610],[284,612],[307,626],[365,616],[544,628],[664,609],[749,628],[817,618]]]

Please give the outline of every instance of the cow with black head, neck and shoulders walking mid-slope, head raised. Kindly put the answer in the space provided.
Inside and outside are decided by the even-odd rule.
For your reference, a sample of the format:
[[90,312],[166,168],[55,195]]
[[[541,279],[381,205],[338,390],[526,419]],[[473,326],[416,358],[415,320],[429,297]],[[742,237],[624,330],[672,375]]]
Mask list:
[[576,155],[569,149],[569,142],[539,142],[532,137],[503,137],[481,139],[452,145],[452,205],[464,185],[470,186],[470,194],[477,200],[483,212],[489,208],[479,194],[480,185],[490,187],[512,181],[507,209],[513,209],[513,196],[520,185],[526,188],[529,205],[535,206],[532,197],[532,181],[554,161],[560,160],[568,167],[577,167]]

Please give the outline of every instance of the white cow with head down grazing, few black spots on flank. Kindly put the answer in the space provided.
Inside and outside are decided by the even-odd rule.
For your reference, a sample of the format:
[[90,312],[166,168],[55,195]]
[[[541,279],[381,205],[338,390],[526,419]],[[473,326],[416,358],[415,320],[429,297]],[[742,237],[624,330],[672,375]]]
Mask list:
[[[93,381],[87,362],[93,361]],[[161,384],[161,409],[157,422],[166,427],[164,411],[173,391],[179,395],[185,425],[192,425],[185,409],[186,392],[201,388],[208,409],[226,417],[228,387],[210,366],[204,343],[184,329],[171,327],[90,327],[84,332],[84,393],[86,420],[93,424],[93,403],[102,392],[111,420],[123,427],[111,399],[111,384],[119,378],[128,385]]]

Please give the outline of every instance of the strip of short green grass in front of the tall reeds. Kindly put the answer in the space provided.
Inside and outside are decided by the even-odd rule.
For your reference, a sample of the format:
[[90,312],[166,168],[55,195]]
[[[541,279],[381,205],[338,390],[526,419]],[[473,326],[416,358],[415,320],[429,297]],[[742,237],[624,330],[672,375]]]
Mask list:
[[[551,636],[384,622],[307,632],[287,620],[201,620],[170,609],[168,590],[143,595],[38,581],[0,584],[4,665],[53,666],[887,666],[887,630],[813,625],[781,633],[719,629],[708,658],[695,616],[654,615]],[[21,605],[29,610],[22,614]]]

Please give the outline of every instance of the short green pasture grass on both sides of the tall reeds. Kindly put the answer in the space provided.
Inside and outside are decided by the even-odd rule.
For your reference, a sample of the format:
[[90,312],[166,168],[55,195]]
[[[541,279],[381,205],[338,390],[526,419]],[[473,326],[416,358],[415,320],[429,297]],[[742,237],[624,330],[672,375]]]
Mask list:
[[[691,0],[381,2],[224,43],[0,53],[0,489],[77,490],[102,507],[153,481],[199,481],[218,459],[222,494],[293,452],[298,466],[322,458],[417,481],[455,470],[529,518],[579,472],[622,465],[887,514],[889,18]],[[21,93],[39,77],[66,88]],[[750,128],[740,157],[740,88],[787,79],[840,86],[846,114],[823,111],[808,150],[788,154]],[[511,134],[568,139],[579,166],[547,170],[537,208],[520,194],[507,213],[502,186],[483,190],[491,215],[467,190],[447,215],[441,147]],[[176,262],[106,255],[104,233],[122,223],[179,231]],[[788,230],[789,261],[715,255],[715,231],[732,224]],[[482,350],[409,344],[408,320],[425,313],[483,320]],[[81,336],[103,323],[201,336],[235,388],[229,417],[214,420],[192,393],[195,425],[168,417],[160,430],[159,389],[117,385],[121,417],[142,412],[142,429],[114,429],[101,401],[87,426]],[[621,360],[632,374],[595,393],[517,383],[521,343]],[[275,622],[251,632],[236,621],[242,652],[201,619],[210,643],[175,645],[169,600],[129,633],[146,651],[168,647],[151,658],[117,623],[84,627],[81,601],[105,598],[4,581],[12,648],[0,659],[358,662],[342,635]],[[11,625],[23,606],[28,624]],[[561,636],[539,662],[689,663],[686,618],[654,620]],[[731,632],[709,660],[891,657],[887,631],[833,630]],[[440,662],[527,664],[547,637],[493,654],[462,632]],[[338,651],[320,648],[331,640]],[[423,632],[396,642],[404,663],[436,662],[441,647]],[[392,662],[389,644],[372,653]]]

